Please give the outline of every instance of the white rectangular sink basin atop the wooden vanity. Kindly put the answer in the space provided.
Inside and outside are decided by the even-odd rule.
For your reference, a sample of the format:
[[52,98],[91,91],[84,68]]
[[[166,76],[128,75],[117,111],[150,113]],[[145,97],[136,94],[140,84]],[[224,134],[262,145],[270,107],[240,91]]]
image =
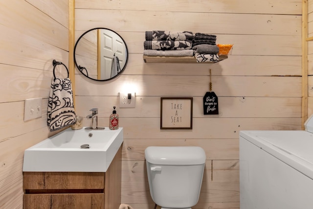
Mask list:
[[[123,128],[68,128],[24,152],[23,171],[106,172],[123,142]],[[89,144],[89,148],[81,145]]]

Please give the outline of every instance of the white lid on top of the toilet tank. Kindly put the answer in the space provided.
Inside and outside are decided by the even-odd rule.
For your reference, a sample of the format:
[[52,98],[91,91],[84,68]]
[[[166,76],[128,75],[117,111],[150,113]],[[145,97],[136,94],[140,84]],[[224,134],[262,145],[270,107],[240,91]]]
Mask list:
[[205,163],[205,152],[198,146],[150,146],[146,161],[161,165],[197,165]]

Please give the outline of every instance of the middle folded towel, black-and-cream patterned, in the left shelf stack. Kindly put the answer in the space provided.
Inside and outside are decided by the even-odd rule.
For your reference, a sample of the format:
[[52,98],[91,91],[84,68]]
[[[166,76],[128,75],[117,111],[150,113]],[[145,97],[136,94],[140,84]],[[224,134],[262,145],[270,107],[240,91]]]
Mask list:
[[192,41],[144,41],[144,49],[184,50],[191,49]]

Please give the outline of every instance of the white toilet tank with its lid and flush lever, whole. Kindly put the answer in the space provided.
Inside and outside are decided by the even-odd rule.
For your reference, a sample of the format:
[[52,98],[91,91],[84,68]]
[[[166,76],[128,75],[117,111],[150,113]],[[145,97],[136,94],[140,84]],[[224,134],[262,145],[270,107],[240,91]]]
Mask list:
[[198,203],[205,152],[197,146],[145,149],[150,194],[161,209],[191,209]]

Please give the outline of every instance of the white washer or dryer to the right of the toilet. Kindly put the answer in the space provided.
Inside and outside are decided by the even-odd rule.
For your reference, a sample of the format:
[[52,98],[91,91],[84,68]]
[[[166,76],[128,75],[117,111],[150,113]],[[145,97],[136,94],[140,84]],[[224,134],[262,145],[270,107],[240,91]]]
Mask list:
[[305,131],[240,132],[240,209],[313,209],[313,117]]

